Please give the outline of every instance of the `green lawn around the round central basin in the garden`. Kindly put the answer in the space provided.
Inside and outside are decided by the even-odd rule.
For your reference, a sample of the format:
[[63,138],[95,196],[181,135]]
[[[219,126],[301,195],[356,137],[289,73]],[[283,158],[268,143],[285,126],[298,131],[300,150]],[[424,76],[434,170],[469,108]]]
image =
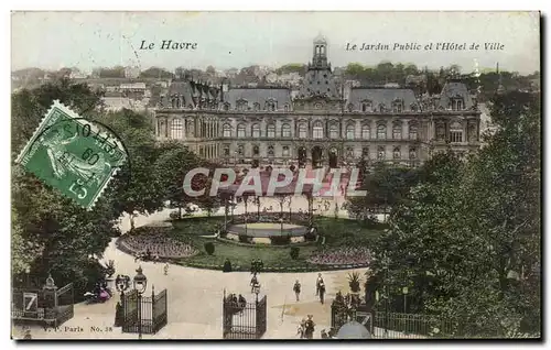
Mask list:
[[[323,248],[357,247],[358,244],[368,247],[369,241],[379,236],[383,229],[383,227],[368,228],[355,220],[328,217],[316,217],[314,222],[318,228],[318,232],[325,236],[325,245]],[[264,266],[271,267],[309,267],[312,270],[316,267],[309,264],[306,260],[316,250],[322,249],[322,245],[317,243],[298,245],[300,249],[299,259],[292,260],[290,247],[239,245],[199,237],[213,234],[220,223],[224,223],[224,217],[186,218],[173,221],[174,229],[171,236],[174,239],[192,243],[199,250],[198,254],[176,262],[195,265],[223,265],[224,261],[229,259],[234,267],[242,266],[244,270],[247,270],[251,260],[260,259],[263,261]],[[215,252],[213,255],[205,252],[205,242],[214,243]]]

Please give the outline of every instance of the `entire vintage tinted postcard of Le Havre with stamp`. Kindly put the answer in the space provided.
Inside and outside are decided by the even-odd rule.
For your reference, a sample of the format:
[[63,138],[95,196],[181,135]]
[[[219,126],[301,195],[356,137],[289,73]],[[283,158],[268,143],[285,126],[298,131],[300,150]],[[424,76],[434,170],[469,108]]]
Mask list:
[[539,12],[13,12],[11,337],[542,337]]

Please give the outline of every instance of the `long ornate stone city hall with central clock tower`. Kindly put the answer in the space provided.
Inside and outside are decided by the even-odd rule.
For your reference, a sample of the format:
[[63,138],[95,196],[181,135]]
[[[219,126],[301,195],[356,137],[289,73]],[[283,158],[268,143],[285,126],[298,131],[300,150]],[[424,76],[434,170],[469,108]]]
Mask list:
[[345,87],[321,36],[299,90],[175,79],[154,116],[159,141],[239,166],[417,166],[447,147],[479,147],[480,112],[465,84],[449,80],[439,96],[423,98],[409,88]]

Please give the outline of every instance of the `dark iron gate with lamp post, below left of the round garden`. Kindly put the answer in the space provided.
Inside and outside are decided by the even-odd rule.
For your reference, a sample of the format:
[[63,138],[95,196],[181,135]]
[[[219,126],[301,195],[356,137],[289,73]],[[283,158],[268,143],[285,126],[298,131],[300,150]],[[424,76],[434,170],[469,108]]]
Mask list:
[[136,289],[122,295],[122,332],[140,332],[141,319],[142,333],[156,333],[168,322],[166,306],[166,289],[151,296],[140,296]]

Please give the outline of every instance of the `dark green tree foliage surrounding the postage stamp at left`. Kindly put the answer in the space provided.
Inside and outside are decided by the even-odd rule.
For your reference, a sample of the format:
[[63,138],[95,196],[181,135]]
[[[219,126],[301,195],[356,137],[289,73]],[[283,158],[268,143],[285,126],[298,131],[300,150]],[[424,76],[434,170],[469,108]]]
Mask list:
[[[98,95],[67,79],[13,94],[13,158],[55,99],[83,116],[99,106]],[[111,199],[101,197],[88,211],[17,164],[12,165],[11,193],[14,282],[30,267],[31,274],[42,278],[51,272],[58,285],[74,282],[77,293],[86,289],[91,282],[88,255],[101,255],[117,231],[114,223],[120,212],[112,210]]]

